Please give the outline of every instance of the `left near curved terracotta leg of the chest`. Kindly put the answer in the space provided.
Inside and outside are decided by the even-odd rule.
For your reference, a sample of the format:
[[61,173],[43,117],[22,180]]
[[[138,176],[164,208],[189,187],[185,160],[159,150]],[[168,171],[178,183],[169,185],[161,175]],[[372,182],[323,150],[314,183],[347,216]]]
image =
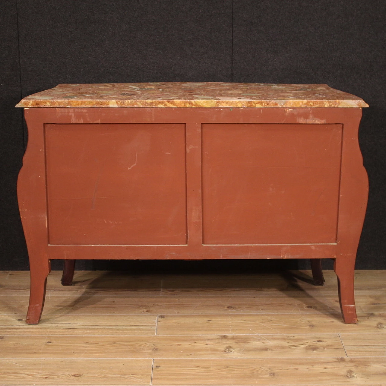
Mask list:
[[25,322],[28,324],[39,323],[42,315],[44,299],[46,298],[47,276],[51,271],[51,264],[47,260],[46,264],[34,263],[30,259],[30,293],[27,317]]

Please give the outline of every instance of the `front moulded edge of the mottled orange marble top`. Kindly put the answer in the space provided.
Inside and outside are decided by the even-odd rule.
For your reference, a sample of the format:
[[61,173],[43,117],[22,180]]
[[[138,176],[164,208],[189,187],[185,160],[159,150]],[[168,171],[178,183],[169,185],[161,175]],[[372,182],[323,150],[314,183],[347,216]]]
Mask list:
[[61,107],[61,108],[102,108],[102,107],[369,107],[364,100],[358,99],[266,99],[266,100],[106,100],[106,99],[22,99],[15,107]]

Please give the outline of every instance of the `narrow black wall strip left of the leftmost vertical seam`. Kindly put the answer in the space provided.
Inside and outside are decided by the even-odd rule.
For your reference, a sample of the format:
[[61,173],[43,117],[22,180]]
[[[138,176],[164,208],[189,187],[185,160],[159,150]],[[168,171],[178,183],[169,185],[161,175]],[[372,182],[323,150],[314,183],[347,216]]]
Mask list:
[[16,199],[24,152],[15,0],[0,2],[0,270],[28,269]]

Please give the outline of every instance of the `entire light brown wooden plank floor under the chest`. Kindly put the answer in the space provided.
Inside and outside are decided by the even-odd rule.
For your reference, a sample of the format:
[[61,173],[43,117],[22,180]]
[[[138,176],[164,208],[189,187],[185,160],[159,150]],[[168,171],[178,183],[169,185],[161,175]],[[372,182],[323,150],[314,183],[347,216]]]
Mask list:
[[28,272],[0,272],[0,385],[386,385],[386,271],[356,272],[359,323],[336,277],[52,272],[41,323]]

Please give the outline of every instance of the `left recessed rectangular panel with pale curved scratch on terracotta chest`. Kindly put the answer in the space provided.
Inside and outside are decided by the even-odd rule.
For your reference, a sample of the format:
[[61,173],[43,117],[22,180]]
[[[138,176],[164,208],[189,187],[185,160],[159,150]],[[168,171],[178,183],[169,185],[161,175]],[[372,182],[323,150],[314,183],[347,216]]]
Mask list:
[[50,244],[186,244],[185,124],[46,124]]

